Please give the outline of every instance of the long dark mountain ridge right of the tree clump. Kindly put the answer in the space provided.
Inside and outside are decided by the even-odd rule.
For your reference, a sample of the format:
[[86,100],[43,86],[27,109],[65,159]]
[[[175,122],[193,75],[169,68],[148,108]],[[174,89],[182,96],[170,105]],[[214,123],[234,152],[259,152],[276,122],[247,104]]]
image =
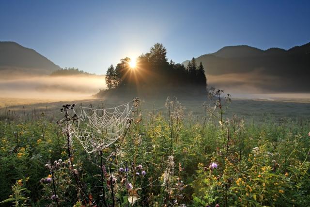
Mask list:
[[[209,84],[268,92],[310,92],[310,43],[288,50],[229,46],[196,58]],[[184,65],[188,61],[183,62]]]

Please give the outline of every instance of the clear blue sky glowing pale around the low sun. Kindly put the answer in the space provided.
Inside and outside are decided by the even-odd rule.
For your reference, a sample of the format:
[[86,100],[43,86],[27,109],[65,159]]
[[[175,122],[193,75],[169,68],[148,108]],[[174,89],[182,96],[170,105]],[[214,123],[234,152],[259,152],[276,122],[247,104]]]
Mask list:
[[176,63],[230,45],[302,45],[310,42],[309,11],[309,0],[0,0],[0,41],[104,74],[156,42]]

